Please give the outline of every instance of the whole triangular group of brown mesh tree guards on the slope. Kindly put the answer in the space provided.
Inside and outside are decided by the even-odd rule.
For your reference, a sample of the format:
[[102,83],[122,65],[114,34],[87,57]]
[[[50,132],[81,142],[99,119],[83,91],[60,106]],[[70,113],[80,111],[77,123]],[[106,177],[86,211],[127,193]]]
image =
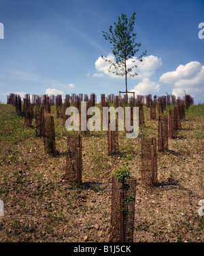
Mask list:
[[[126,106],[126,95],[101,95],[101,106]],[[7,96],[7,103],[16,107],[16,113],[23,114],[24,124],[32,126],[35,116],[36,135],[44,140],[45,153],[56,155],[54,117],[51,114],[51,106],[56,104],[56,118],[63,118],[65,123],[65,110],[71,104],[80,108],[83,95],[66,95],[63,102],[61,95],[34,95],[31,102],[30,95],[25,95],[21,101],[19,95]],[[85,100],[86,99],[86,100]],[[84,95],[87,106],[95,106],[97,97],[95,94]],[[169,138],[176,138],[177,131],[182,129],[182,119],[185,110],[193,104],[193,98],[186,95],[184,99],[176,99],[174,95],[167,95],[152,99],[152,95],[135,95],[129,98],[129,106],[139,106],[139,125],[144,125],[143,105],[150,108],[150,119],[157,120],[158,114],[158,138],[141,138],[141,184],[148,187],[157,185],[157,149],[160,152],[169,150]],[[173,110],[169,115],[164,114],[168,105],[173,104]],[[172,109],[172,108],[171,108]],[[35,110],[35,111],[34,111]],[[107,131],[107,152],[109,155],[118,154],[120,151],[118,130]],[[82,132],[81,132],[82,133]],[[84,134],[88,132],[84,131]],[[71,131],[67,135],[67,155],[65,179],[70,185],[82,185],[82,135]],[[135,219],[135,194],[137,180],[132,176],[120,180],[116,175],[112,176],[112,206],[109,242],[133,242],[133,230]]]

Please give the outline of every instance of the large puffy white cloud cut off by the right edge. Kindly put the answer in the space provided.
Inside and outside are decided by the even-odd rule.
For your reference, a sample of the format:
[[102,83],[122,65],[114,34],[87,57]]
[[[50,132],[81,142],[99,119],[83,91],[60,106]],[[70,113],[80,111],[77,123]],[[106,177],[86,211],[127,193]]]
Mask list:
[[160,76],[160,82],[173,84],[176,97],[182,97],[185,93],[192,96],[202,94],[204,81],[204,66],[198,61],[192,61],[186,65],[179,65],[175,71],[170,71]]

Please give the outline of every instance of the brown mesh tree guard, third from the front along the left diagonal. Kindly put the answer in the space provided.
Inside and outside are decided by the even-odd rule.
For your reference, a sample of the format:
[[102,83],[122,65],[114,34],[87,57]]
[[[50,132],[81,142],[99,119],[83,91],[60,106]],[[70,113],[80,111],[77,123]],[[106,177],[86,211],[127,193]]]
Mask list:
[[44,151],[45,153],[56,155],[54,118],[53,116],[44,116]]

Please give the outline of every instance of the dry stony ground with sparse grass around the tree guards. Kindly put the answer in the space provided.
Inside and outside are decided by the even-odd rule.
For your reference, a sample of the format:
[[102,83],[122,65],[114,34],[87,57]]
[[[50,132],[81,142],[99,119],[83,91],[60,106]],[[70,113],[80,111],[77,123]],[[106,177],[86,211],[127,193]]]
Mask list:
[[[45,111],[45,116],[53,116],[54,154],[45,151],[44,136],[37,134],[37,104],[27,123],[23,102],[18,108],[1,103],[0,199],[4,214],[0,216],[0,242],[109,242],[112,177],[124,172],[137,180],[133,242],[203,242],[199,202],[204,199],[204,104],[184,106],[182,127],[173,138],[167,135],[168,149],[161,151],[156,102],[154,119],[150,118],[150,104],[142,103],[143,123],[137,138],[128,139],[125,131],[118,131],[116,153],[109,153],[107,131],[80,133],[80,185],[67,177],[69,132],[56,102]],[[137,103],[136,98],[134,106]],[[177,101],[166,102],[160,115],[166,114],[169,121],[169,110],[173,112],[177,105]],[[101,102],[95,106],[101,108]],[[152,185],[144,184],[141,176],[143,138],[156,138],[157,180]]]

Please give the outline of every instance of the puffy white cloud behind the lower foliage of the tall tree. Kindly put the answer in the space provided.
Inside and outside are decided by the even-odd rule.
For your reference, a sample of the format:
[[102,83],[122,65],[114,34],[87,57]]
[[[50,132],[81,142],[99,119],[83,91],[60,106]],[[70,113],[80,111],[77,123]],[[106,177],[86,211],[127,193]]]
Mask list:
[[[115,57],[113,54],[108,54],[105,59],[108,59],[110,61],[115,61]],[[134,61],[134,63],[133,63]],[[160,58],[150,55],[143,57],[143,61],[139,61],[136,57],[133,57],[132,59],[127,60],[127,67],[133,67],[133,65],[137,65],[137,67],[133,68],[133,73],[135,72],[137,76],[135,78],[148,78],[154,74],[154,71],[162,65],[162,61]],[[105,62],[102,57],[99,57],[97,61],[95,62],[95,68],[97,71],[102,72],[102,74],[106,74],[112,78],[122,78],[121,76],[116,76],[116,74],[113,74],[112,72],[109,72],[110,63]],[[111,69],[114,71],[114,67]]]

